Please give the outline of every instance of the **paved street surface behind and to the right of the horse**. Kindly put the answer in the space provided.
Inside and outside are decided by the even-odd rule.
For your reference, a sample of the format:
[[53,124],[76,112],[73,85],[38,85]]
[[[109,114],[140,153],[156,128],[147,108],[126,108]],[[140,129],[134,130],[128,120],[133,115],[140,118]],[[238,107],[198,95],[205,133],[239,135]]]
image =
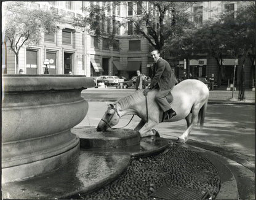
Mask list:
[[[89,110],[84,120],[76,127],[96,127],[110,102],[116,101],[120,96],[133,91],[116,88],[89,88],[82,91],[82,94],[85,94],[85,96],[82,96],[89,101]],[[99,96],[97,99],[95,94],[103,94],[103,98]],[[190,140],[184,146],[201,152],[217,167],[222,180],[222,187],[216,199],[255,199],[255,92],[246,91],[244,101],[231,98],[231,94],[232,91],[210,91],[207,112],[214,113],[215,116],[211,118],[206,116],[205,131],[201,132],[198,127],[194,128]],[[233,97],[237,96],[238,91],[234,91]],[[245,110],[244,115],[242,115],[245,121],[241,121],[240,124],[236,123],[236,126],[234,126],[234,121],[228,121],[226,119],[228,117],[220,117],[220,113],[215,112],[216,107],[219,106],[222,106],[224,113],[227,107],[231,107],[234,113],[229,113],[228,116],[233,119],[236,118],[237,114],[242,114],[241,112],[238,113],[239,111],[236,112],[235,109],[242,108],[242,110]],[[115,128],[125,126],[130,117],[122,117]],[[126,128],[135,128],[139,121],[140,119],[135,116]],[[177,137],[185,131],[186,123],[185,120],[174,122],[171,125],[160,123],[154,129],[159,131],[161,137],[177,140]]]

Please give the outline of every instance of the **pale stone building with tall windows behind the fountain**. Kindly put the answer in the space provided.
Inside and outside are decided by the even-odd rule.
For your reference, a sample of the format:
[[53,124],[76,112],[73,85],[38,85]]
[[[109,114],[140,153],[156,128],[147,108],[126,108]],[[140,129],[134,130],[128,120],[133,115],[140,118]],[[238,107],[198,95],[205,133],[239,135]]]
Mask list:
[[[121,27],[116,35],[118,46],[108,45],[105,36],[96,40],[86,29],[73,26],[73,17],[83,15],[82,7],[90,3],[104,6],[106,2],[88,1],[52,1],[27,2],[27,6],[35,9],[49,9],[54,6],[59,13],[65,15],[65,23],[58,26],[55,34],[44,35],[39,45],[23,47],[19,53],[19,69],[25,74],[44,74],[44,61],[49,60],[49,74],[69,74],[98,76],[118,75],[126,78],[136,75],[139,69],[148,74],[148,42],[144,37],[134,37],[129,27]],[[134,4],[134,6],[137,6]],[[132,16],[130,10],[120,4],[114,8],[117,15]],[[111,22],[112,23],[112,22]],[[106,23],[106,29],[113,24]],[[107,35],[106,35],[107,37]],[[4,45],[3,45],[4,47]],[[6,42],[6,58],[4,73],[14,74],[15,55]]]

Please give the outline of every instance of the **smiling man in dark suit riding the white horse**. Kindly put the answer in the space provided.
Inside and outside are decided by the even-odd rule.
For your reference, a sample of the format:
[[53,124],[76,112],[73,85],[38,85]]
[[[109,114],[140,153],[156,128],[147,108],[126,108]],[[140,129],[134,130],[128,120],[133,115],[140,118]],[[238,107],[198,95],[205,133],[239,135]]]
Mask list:
[[[160,57],[159,50],[153,50],[151,56],[154,59],[154,68],[151,78],[151,84],[143,91],[146,96],[153,88],[158,90],[156,94],[156,102],[164,112],[164,120],[168,120],[176,115],[176,112],[170,106],[166,96],[170,93],[175,84],[178,83],[174,71],[170,68],[170,64]],[[172,102],[172,101],[171,101]]]

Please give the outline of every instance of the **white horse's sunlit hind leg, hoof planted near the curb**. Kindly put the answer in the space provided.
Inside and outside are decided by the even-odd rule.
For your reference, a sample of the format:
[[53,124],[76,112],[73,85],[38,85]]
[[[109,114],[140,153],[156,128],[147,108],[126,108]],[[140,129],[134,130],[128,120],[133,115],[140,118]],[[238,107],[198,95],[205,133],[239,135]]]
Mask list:
[[192,128],[194,127],[194,125],[196,125],[196,123],[198,123],[199,110],[200,110],[200,105],[198,104],[193,107],[191,117],[190,117],[190,114],[186,117],[186,125],[190,123],[190,118],[191,118],[191,123],[186,129],[186,131],[182,134],[182,136],[178,137],[178,142],[185,143],[188,140],[188,136],[190,135]]

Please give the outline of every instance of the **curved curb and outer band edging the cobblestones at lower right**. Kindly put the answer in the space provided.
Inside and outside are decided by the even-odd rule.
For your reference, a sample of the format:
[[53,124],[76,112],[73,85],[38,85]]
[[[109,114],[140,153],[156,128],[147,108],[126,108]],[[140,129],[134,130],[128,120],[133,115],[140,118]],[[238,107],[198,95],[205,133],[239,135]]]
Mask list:
[[[221,186],[215,199],[255,199],[255,173],[237,161],[226,157],[225,154],[229,156],[229,151],[224,152],[223,148],[201,144],[194,140],[191,142],[189,140],[188,144],[182,145],[198,152],[217,168]],[[222,155],[217,153],[218,150],[223,151]]]

